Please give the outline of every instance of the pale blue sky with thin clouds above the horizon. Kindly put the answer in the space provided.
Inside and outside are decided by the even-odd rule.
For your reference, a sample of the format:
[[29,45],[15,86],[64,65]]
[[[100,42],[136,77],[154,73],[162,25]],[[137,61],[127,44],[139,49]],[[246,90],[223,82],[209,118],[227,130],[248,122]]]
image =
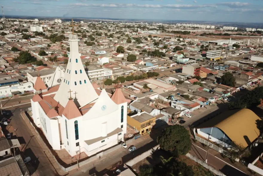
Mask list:
[[6,15],[263,22],[263,0],[0,0]]

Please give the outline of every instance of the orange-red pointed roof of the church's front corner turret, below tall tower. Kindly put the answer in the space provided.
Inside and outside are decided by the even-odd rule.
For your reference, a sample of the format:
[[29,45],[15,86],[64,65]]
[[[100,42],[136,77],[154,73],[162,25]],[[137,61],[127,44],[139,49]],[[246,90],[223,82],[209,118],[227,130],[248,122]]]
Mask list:
[[68,103],[62,113],[67,119],[74,119],[81,116],[79,109],[77,108],[74,100],[68,100]]

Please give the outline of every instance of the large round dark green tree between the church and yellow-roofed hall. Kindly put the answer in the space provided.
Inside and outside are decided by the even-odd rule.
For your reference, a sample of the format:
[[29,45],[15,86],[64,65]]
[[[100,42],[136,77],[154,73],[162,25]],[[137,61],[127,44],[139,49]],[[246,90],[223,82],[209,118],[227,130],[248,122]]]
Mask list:
[[189,132],[181,125],[171,125],[157,137],[161,149],[185,155],[191,149]]

